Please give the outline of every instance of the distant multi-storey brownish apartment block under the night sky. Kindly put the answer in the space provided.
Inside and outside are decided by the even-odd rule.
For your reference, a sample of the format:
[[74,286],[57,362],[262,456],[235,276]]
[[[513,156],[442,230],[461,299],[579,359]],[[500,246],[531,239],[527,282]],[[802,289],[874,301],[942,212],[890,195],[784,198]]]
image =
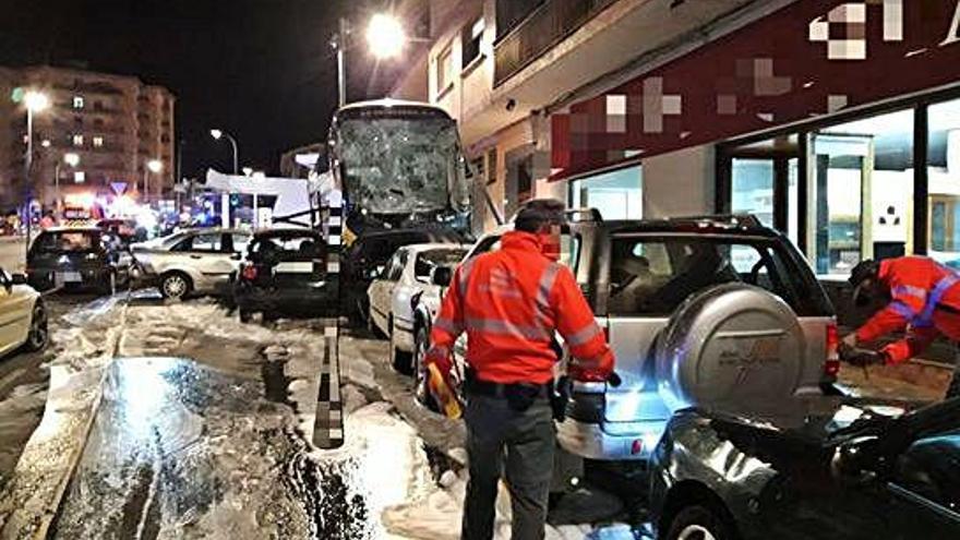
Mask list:
[[[32,192],[44,207],[71,195],[120,193],[157,201],[173,187],[176,98],[132,76],[31,67],[0,68],[0,205],[22,204],[26,111],[15,89],[43,92],[34,115]],[[77,158],[76,166],[64,156]],[[149,166],[152,161],[156,161]],[[159,166],[157,166],[159,164]]]

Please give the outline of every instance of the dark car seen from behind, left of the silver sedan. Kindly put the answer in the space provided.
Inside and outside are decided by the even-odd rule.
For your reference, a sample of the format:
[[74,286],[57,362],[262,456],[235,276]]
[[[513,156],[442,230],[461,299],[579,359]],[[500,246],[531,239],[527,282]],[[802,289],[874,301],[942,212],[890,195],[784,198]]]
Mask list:
[[47,290],[94,289],[110,292],[129,281],[130,256],[95,227],[47,229],[27,253],[26,272],[32,287]]

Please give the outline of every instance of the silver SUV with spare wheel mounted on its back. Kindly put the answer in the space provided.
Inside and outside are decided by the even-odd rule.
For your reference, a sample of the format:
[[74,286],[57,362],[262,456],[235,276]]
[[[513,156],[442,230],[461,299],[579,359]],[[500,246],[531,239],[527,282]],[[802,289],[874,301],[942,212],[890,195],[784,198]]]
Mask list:
[[[619,381],[573,382],[557,433],[566,451],[646,459],[677,409],[832,391],[833,309],[782,235],[752,216],[587,215],[565,231],[562,262],[608,335]],[[468,257],[496,249],[502,233]],[[427,308],[418,337],[429,333]]]

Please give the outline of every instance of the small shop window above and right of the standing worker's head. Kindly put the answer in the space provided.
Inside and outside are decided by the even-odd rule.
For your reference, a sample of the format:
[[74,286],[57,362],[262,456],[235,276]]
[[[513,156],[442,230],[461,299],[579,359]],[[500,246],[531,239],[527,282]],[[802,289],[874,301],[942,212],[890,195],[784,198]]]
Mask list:
[[604,219],[640,219],[644,216],[640,166],[576,180],[571,184],[572,208],[597,208]]

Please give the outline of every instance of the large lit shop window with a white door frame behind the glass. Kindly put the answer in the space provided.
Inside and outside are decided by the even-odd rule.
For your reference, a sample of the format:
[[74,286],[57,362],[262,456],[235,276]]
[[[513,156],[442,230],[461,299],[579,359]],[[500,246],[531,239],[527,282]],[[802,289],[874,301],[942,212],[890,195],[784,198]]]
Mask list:
[[913,252],[913,110],[812,135],[812,255],[819,275],[845,278],[864,259]]

